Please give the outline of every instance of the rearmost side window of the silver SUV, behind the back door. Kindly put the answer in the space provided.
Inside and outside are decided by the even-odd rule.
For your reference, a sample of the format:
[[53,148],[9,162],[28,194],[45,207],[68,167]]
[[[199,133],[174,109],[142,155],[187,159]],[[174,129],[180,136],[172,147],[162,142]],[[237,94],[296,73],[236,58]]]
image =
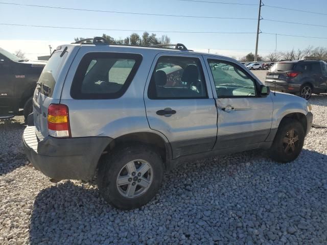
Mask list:
[[131,83],[142,56],[137,54],[89,53],[77,68],[72,84],[74,99],[116,99]]

